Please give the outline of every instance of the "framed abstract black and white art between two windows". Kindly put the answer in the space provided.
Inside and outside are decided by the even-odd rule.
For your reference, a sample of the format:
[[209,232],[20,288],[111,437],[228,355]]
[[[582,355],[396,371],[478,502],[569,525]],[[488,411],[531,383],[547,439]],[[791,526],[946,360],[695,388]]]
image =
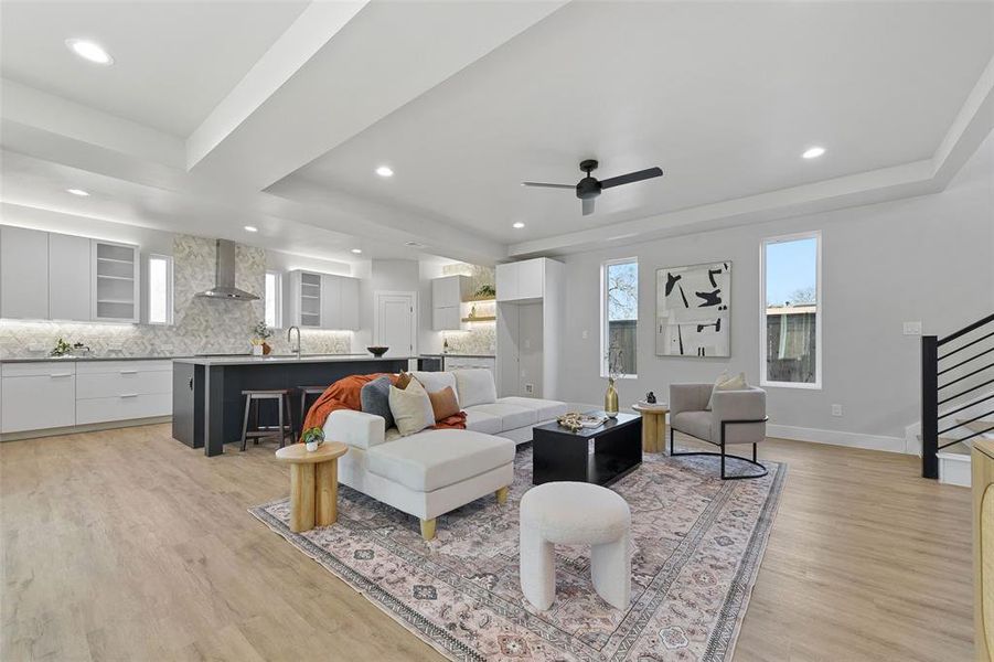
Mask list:
[[658,356],[730,356],[730,260],[656,269]]

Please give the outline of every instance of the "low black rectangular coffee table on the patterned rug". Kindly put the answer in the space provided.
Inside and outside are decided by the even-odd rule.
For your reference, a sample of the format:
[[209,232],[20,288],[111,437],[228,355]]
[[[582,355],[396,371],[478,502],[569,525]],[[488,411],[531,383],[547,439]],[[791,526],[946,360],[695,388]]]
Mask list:
[[532,483],[536,485],[555,480],[608,485],[641,463],[642,417],[634,414],[618,414],[600,427],[575,433],[558,423],[532,429]]

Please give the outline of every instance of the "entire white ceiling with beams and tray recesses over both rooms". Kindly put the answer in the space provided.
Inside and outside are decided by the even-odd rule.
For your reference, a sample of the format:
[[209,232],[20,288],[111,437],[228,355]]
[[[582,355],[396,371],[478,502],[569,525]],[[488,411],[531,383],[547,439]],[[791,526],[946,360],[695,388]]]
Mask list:
[[[331,259],[492,263],[930,193],[994,127],[994,2],[4,1],[2,19],[4,203]],[[800,159],[811,145],[827,153]],[[665,177],[586,217],[571,191],[519,185],[576,183],[591,157],[600,179]]]

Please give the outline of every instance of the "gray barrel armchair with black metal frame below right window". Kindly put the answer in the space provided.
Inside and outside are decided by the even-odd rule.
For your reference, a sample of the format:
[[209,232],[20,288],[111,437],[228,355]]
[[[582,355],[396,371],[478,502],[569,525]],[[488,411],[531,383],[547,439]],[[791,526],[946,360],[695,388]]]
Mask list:
[[[670,386],[670,455],[716,456],[722,458],[722,480],[761,478],[767,469],[756,459],[756,445],[766,439],[767,393],[748,386],[741,391],[715,391],[712,409],[706,409],[714,384],[672,384]],[[720,447],[720,452],[674,452],[673,431],[690,435]],[[751,444],[752,459],[728,455],[729,444]],[[727,476],[726,458],[759,467],[761,473]]]

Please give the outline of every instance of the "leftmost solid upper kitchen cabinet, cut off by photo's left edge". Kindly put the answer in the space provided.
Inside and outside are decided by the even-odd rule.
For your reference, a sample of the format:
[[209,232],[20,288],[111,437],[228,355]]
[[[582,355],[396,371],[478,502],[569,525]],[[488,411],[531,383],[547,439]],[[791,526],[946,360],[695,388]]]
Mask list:
[[49,233],[0,226],[0,317],[49,319]]

